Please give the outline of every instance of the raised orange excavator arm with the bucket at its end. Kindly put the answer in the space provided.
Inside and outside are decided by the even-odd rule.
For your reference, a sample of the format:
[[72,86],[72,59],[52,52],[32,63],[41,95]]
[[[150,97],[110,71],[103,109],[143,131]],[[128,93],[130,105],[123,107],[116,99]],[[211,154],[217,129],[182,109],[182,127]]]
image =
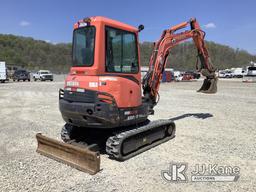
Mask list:
[[[189,25],[191,28],[190,30],[177,33],[178,30]],[[198,63],[196,64],[196,69],[206,77],[198,92],[217,92],[217,77],[204,42],[204,37],[205,32],[201,30],[200,25],[195,18],[163,31],[160,39],[154,44],[149,63],[149,70],[143,78],[144,98],[151,101],[152,105],[156,105],[157,103],[159,85],[170,50],[190,38],[194,41],[198,52],[198,58],[201,63],[200,66],[198,66]]]

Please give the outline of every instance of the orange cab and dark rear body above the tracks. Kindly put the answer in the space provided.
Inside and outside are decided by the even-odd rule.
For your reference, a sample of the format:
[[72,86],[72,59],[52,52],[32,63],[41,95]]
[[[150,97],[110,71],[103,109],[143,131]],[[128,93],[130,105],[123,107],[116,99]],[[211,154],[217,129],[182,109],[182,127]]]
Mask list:
[[75,23],[72,67],[59,99],[66,123],[106,129],[147,119],[141,94],[138,31],[100,16]]

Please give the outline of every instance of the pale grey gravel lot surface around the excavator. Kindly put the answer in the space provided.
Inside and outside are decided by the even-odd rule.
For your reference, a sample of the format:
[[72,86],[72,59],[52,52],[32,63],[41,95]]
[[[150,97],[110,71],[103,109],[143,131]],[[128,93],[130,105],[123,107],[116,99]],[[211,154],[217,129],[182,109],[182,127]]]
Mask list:
[[[0,84],[0,191],[256,191],[256,84],[219,81],[216,95],[201,82],[162,84],[151,119],[173,118],[176,138],[125,162],[101,156],[91,176],[35,152],[35,134],[60,139],[64,124],[55,82]],[[240,167],[237,182],[168,183],[170,162]]]

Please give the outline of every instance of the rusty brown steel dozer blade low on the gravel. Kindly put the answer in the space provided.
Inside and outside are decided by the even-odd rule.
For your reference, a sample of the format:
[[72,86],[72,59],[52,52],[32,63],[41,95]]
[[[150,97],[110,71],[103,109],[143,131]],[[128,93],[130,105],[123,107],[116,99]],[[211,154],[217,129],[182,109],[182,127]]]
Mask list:
[[91,175],[100,170],[99,152],[90,151],[87,148],[79,147],[57,141],[55,139],[36,134],[38,143],[37,152],[51,159],[65,163],[80,171]]

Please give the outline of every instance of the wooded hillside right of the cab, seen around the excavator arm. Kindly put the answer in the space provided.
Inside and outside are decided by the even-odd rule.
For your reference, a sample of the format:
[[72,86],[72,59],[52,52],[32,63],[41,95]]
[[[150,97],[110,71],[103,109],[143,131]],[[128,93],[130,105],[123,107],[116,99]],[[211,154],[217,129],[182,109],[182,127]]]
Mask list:
[[[256,61],[256,55],[247,51],[233,49],[226,45],[206,42],[214,66],[218,69],[247,66],[250,61]],[[147,65],[153,43],[144,42],[140,45],[142,65]],[[197,60],[197,50],[193,42],[185,42],[171,50],[167,67],[178,70],[193,70]]]

